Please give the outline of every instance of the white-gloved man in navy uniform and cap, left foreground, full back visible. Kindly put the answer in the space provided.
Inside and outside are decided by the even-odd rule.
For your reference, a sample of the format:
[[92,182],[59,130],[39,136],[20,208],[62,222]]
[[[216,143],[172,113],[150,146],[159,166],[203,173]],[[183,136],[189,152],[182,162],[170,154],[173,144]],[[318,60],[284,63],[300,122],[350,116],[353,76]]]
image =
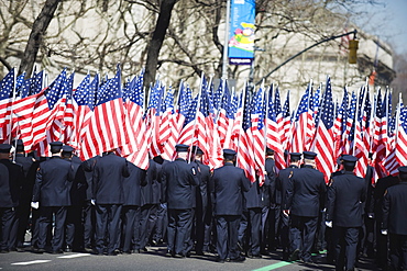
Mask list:
[[55,215],[52,252],[62,253],[67,206],[70,205],[69,189],[73,177],[70,162],[61,158],[63,143],[54,142],[51,146],[51,159],[40,163],[33,190],[32,207],[40,206],[38,218],[38,249],[34,252],[44,252],[48,228],[52,227]]

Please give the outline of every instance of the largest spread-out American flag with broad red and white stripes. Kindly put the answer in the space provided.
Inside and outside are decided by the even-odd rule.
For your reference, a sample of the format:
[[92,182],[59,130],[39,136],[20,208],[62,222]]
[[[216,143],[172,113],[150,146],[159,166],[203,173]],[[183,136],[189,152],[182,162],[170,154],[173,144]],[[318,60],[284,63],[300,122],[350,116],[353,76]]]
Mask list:
[[129,142],[125,125],[125,111],[121,91],[120,67],[114,78],[102,84],[97,93],[94,115],[82,140],[81,150],[85,159],[103,151],[117,149]]

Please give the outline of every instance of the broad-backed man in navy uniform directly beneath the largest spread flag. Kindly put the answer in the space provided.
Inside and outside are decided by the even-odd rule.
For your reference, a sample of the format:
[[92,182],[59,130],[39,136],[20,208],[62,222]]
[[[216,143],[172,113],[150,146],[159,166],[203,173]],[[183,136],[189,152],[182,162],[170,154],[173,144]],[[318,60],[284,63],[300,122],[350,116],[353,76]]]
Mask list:
[[[124,202],[123,182],[129,177],[128,161],[107,151],[95,165],[92,202],[96,205],[95,255],[116,256],[119,249],[120,214]],[[107,244],[107,245],[106,245]]]

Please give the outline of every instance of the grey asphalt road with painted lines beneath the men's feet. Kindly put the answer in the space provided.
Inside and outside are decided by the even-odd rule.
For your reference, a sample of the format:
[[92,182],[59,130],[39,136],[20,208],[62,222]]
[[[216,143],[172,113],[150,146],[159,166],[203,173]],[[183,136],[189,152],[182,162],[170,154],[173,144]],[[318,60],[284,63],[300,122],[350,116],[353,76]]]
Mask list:
[[[326,264],[323,255],[315,256],[314,264],[280,261],[277,251],[262,259],[246,259],[243,263],[216,262],[215,255],[196,256],[176,259],[167,258],[165,247],[151,247],[147,252],[118,256],[94,256],[89,253],[65,252],[63,255],[32,253],[29,248],[25,252],[9,252],[0,255],[0,270],[30,270],[30,271],[70,271],[70,270],[136,270],[136,271],[299,271],[299,270],[334,270]],[[372,260],[362,259],[358,264],[360,271],[376,270]]]

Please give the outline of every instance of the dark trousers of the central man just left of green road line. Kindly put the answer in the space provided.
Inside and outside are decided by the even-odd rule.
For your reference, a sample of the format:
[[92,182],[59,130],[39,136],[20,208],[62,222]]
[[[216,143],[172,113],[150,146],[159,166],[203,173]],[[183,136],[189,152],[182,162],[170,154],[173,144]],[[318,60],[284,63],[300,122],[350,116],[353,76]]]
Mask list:
[[238,251],[238,229],[240,215],[217,215],[217,250],[219,259],[235,259]]

